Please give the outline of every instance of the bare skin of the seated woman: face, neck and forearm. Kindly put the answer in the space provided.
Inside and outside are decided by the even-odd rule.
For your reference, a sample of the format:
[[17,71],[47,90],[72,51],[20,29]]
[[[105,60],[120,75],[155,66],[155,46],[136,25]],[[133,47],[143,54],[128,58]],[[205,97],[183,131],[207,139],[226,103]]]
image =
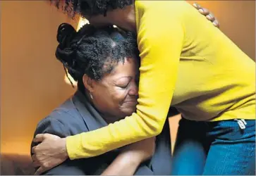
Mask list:
[[[135,58],[125,58],[124,63],[114,63],[114,69],[111,73],[105,73],[102,80],[83,76],[85,94],[106,122],[115,122],[135,112],[138,104],[138,75],[138,61]],[[102,175],[133,175],[140,163],[152,157],[154,149],[155,137],[130,144]],[[37,167],[40,164],[34,161],[33,165]],[[35,175],[39,174],[37,170]]]

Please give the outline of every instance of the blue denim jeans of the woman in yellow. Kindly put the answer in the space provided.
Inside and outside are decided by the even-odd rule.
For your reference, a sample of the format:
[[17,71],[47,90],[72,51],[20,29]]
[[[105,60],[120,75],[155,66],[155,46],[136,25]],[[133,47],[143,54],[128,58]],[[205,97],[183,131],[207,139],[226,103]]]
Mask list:
[[171,175],[255,175],[255,120],[182,118]]

